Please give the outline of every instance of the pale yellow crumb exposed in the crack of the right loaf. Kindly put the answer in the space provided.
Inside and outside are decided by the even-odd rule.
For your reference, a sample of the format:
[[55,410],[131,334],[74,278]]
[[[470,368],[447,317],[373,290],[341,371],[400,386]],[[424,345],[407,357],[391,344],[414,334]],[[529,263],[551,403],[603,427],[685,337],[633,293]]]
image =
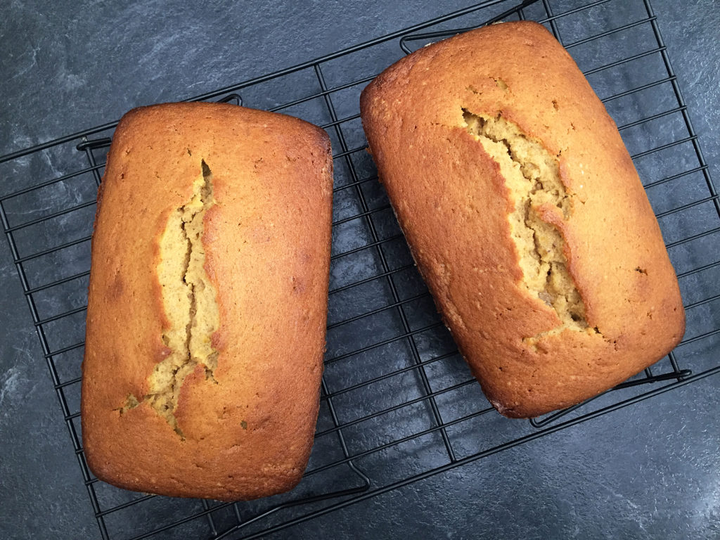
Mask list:
[[557,157],[502,114],[489,117],[463,109],[463,119],[467,131],[500,166],[510,190],[514,210],[508,220],[523,282],[562,321],[551,332],[587,329],[585,305],[567,269],[564,239],[554,225],[541,219],[541,208],[552,207],[563,219],[572,214],[572,198],[560,179]]

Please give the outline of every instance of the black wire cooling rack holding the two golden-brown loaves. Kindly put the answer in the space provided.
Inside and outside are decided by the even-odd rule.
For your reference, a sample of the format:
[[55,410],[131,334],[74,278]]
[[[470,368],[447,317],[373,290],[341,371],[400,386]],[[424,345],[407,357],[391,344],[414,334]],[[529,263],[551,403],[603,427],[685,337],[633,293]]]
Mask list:
[[[320,418],[288,494],[249,503],[127,492],[81,446],[90,235],[116,122],[0,158],[0,217],[104,539],[253,538],[632,405],[720,371],[720,204],[648,0],[490,0],[300,66],[199,96],[322,125],[335,152],[333,254]],[[579,5],[582,4],[582,5]],[[365,152],[360,91],[431,40],[496,19],[552,30],[616,120],[678,272],[688,326],[675,351],[569,410],[493,410],[418,276]]]

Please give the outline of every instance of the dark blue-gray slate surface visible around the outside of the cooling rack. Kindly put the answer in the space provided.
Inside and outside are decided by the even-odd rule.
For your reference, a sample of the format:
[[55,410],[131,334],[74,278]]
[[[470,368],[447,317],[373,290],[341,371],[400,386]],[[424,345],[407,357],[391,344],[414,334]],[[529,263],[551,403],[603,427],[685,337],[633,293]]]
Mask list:
[[[463,6],[11,0],[0,19],[0,154],[292,66]],[[654,0],[720,179],[720,13]],[[6,241],[0,241],[0,538],[99,538]],[[717,357],[718,355],[715,354]],[[720,379],[276,534],[287,538],[717,538]]]

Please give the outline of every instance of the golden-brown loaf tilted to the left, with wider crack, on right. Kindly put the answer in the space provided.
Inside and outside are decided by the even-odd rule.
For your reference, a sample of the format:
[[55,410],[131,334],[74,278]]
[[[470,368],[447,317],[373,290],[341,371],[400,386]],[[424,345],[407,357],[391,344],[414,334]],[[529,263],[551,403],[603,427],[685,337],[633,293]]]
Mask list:
[[565,408],[683,336],[678,281],[617,127],[534,22],[429,45],[361,95],[418,269],[492,405]]

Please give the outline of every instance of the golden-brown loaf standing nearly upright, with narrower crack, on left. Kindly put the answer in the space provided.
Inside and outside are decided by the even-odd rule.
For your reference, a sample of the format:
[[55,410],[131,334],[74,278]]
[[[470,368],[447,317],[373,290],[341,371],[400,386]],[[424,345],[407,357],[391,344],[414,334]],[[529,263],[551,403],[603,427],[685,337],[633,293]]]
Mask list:
[[291,489],[325,346],[323,130],[230,104],[122,118],[98,194],[82,384],[91,470],[129,490]]

